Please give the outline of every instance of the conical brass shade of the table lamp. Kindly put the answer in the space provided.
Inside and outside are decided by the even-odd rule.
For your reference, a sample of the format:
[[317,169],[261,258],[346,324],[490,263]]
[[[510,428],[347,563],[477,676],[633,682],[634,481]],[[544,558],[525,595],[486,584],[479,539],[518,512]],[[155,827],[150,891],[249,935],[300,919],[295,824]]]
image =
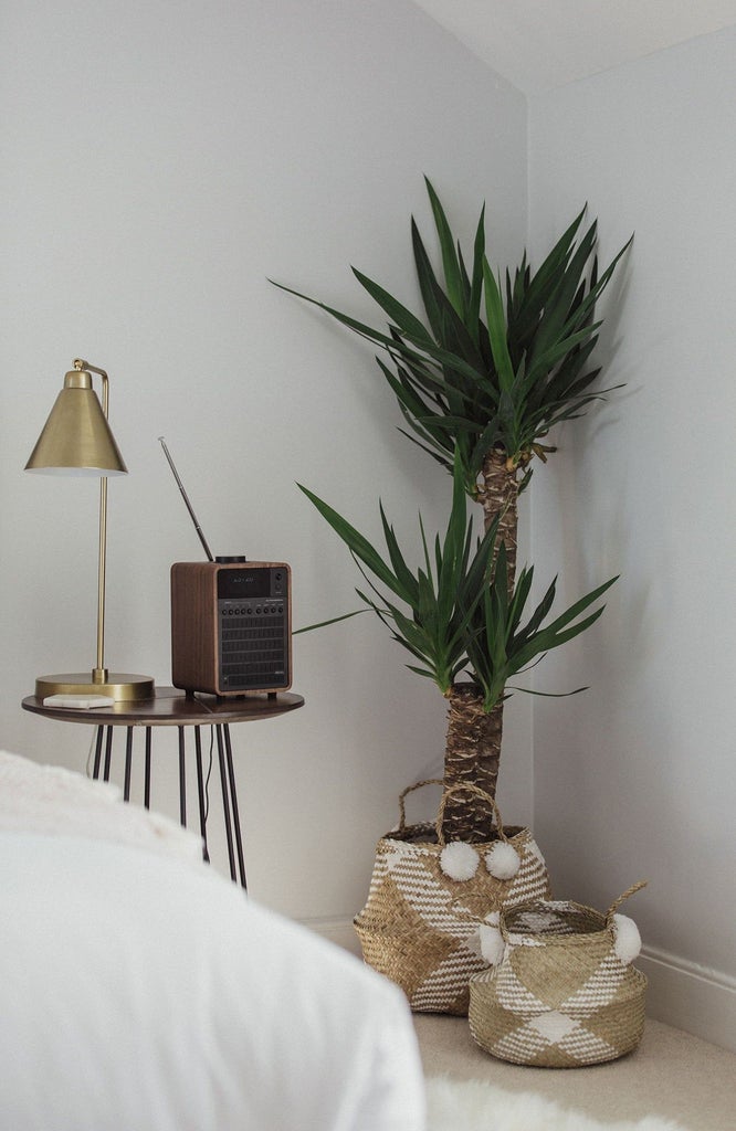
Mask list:
[[63,379],[27,472],[63,475],[125,475],[128,470],[86,370]]

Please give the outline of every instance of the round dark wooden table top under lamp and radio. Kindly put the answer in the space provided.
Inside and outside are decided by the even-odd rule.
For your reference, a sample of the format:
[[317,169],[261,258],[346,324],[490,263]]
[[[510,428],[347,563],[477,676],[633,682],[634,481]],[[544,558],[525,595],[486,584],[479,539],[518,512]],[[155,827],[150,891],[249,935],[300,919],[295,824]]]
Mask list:
[[249,692],[238,698],[219,699],[178,688],[155,688],[153,699],[118,701],[111,707],[44,707],[36,696],[20,703],[24,710],[63,723],[94,723],[96,726],[209,726],[225,723],[248,723],[284,715],[303,706],[302,696],[280,691]]

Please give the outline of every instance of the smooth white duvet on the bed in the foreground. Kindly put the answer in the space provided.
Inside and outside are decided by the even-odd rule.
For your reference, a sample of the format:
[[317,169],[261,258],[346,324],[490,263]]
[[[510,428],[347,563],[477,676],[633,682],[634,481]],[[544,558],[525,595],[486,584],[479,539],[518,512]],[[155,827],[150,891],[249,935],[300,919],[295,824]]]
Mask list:
[[400,992],[190,853],[0,814],[0,898],[3,1131],[425,1126]]

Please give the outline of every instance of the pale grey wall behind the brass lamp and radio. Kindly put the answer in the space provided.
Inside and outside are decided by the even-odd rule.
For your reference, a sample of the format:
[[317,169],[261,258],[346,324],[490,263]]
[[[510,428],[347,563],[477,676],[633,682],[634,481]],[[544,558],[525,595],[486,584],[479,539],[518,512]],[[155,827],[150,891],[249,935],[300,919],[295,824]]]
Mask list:
[[[409,541],[419,507],[444,521],[448,481],[395,431],[371,351],[266,278],[374,317],[356,264],[412,296],[423,173],[468,236],[485,198],[498,261],[515,259],[525,104],[393,0],[29,0],[3,23],[0,740],[82,769],[87,728],[19,708],[35,675],[94,663],[96,485],[23,473],[65,371],[109,370],[130,468],[110,483],[112,668],[170,682],[169,568],[203,556],[161,434],[216,553],[292,564],[297,625],[356,607],[358,575],[294,481],[373,534],[380,494]],[[361,906],[399,791],[442,762],[444,703],[403,663],[368,616],[298,637],[307,706],[233,731],[257,898],[340,923]],[[528,702],[508,710],[513,820],[530,815]],[[155,750],[154,803],[176,814],[173,735]]]

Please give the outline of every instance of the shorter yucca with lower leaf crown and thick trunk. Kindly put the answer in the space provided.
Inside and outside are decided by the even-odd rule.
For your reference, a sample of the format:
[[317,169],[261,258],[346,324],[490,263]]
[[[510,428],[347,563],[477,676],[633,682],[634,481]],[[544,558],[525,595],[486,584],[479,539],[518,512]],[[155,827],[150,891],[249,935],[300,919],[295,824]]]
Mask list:
[[[463,701],[464,697],[469,707],[464,724],[471,729],[473,723],[478,726],[481,719],[499,717],[497,713],[510,693],[512,677],[598,620],[602,605],[583,614],[616,580],[611,578],[598,586],[548,622],[556,594],[555,579],[524,621],[533,567],[521,571],[510,593],[503,543],[495,552],[498,517],[477,538],[472,551],[473,524],[459,458],[447,530],[442,541],[436,536],[430,552],[420,516],[423,562],[414,569],[402,554],[383,506],[380,520],[387,558],[328,503],[307,487],[300,489],[349,547],[370,587],[370,593],[356,592],[391,629],[393,639],[410,653],[412,662],[408,667],[431,679],[451,701]],[[470,676],[470,682],[461,682],[463,673]],[[480,726],[482,741],[467,744],[460,756],[448,746],[445,784],[472,782],[495,796],[502,728]],[[445,834],[452,839],[487,837],[487,806],[469,803],[462,795],[447,804],[444,821]]]

